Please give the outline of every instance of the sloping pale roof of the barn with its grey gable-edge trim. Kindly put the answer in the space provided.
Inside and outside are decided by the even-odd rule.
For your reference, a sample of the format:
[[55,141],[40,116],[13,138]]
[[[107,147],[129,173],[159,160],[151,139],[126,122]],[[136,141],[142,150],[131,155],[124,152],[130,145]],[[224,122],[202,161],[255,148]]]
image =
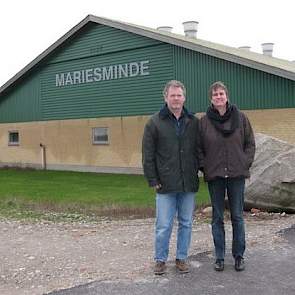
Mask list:
[[32,62],[24,67],[20,72],[8,80],[0,88],[0,96],[4,94],[11,86],[21,79],[29,71],[33,70],[43,59],[53,53],[66,40],[72,38],[89,22],[110,26],[116,29],[125,30],[134,34],[149,37],[165,43],[173,44],[179,47],[187,48],[193,51],[214,56],[226,61],[234,62],[253,69],[261,70],[283,78],[295,81],[295,64],[293,62],[266,56],[263,54],[245,51],[243,49],[225,46],[201,39],[194,39],[183,35],[159,31],[143,26],[133,25],[125,22],[115,21],[107,18],[88,15],[69,32],[59,38],[54,44],[37,56]]

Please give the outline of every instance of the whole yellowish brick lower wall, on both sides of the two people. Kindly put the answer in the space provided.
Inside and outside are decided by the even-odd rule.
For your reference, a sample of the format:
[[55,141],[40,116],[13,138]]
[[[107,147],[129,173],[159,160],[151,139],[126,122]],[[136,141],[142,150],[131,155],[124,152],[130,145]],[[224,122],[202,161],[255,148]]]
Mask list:
[[[245,113],[255,132],[295,144],[295,109]],[[41,168],[42,143],[49,169],[140,173],[141,139],[147,119],[134,116],[0,124],[0,166]],[[108,145],[92,144],[93,127],[109,128]],[[8,131],[12,130],[19,131],[19,146],[8,146]]]

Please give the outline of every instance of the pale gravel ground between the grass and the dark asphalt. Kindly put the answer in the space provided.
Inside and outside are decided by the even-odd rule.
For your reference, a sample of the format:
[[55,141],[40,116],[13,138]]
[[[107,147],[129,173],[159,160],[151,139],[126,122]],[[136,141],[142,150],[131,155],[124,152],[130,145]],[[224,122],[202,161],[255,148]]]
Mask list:
[[[247,252],[266,244],[278,248],[278,231],[295,215],[246,214]],[[153,276],[153,219],[96,222],[29,222],[0,218],[0,294],[44,294],[92,281]],[[231,226],[226,222],[230,252]],[[190,254],[212,252],[208,217],[198,214]],[[175,255],[175,227],[170,260]]]

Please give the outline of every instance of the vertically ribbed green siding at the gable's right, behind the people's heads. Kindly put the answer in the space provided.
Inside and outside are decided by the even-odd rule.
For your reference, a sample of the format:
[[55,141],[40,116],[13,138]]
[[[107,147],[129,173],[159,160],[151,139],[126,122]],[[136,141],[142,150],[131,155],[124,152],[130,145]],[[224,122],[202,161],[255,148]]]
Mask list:
[[295,107],[295,82],[174,46],[175,77],[187,86],[187,106],[203,112],[208,106],[208,88],[223,81],[230,100],[241,109]]

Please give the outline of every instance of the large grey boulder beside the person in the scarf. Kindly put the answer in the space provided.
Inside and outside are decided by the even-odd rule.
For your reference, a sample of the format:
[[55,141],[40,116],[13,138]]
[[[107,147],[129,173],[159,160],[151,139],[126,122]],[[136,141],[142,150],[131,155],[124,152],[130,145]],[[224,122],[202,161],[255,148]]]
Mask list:
[[295,212],[295,146],[257,133],[245,208]]

